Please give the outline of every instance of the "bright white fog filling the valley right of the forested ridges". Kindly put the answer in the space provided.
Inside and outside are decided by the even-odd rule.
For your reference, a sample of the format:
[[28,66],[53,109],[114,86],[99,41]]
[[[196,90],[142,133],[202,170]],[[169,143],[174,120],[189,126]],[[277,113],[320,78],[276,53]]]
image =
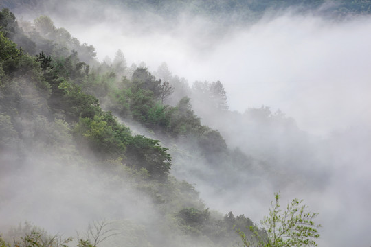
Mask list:
[[[282,148],[273,158],[278,158],[276,171],[291,176],[285,186],[273,183],[277,178],[271,174],[247,173],[235,174],[231,179],[236,185],[223,191],[192,176],[194,167],[210,172],[202,164],[175,164],[174,174],[195,183],[207,207],[244,213],[258,222],[267,215],[273,193],[281,191],[282,204],[303,198],[319,212],[323,225],[319,246],[370,245],[370,18],[333,21],[291,11],[267,13],[244,27],[218,28],[211,20],[187,14],[175,23],[152,15],[138,21],[136,13],[86,7],[66,5],[60,12],[23,16],[47,14],[57,27],[93,45],[100,60],[106,55],[113,58],[122,49],[128,64],[143,61],[155,71],[166,62],[174,75],[187,78],[190,84],[220,80],[230,110],[244,113],[265,105],[295,120],[300,137],[282,132],[267,139],[273,148]],[[267,143],[256,141],[258,146],[247,139],[250,132],[244,130],[243,122],[201,118],[225,133],[231,147],[252,156],[256,152],[251,150],[258,148],[261,154],[269,152]],[[227,129],[237,131],[231,134]],[[289,167],[286,160],[295,165]]]

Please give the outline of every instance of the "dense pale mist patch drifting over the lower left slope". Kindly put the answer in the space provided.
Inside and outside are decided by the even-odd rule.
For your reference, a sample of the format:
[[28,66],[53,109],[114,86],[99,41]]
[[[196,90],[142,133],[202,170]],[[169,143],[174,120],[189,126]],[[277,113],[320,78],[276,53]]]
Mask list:
[[74,161],[61,164],[41,153],[27,156],[18,166],[16,172],[1,176],[1,231],[27,220],[69,237],[76,231],[85,233],[94,220],[150,224],[157,217],[149,198],[96,167]]

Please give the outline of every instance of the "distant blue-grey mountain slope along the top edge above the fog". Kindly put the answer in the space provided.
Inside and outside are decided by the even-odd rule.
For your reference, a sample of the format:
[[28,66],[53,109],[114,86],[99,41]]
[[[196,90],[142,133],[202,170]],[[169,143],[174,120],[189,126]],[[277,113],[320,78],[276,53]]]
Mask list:
[[[102,3],[103,2],[103,3]],[[112,5],[115,8],[122,8],[130,11],[147,12],[157,14],[164,18],[174,18],[183,12],[196,14],[197,16],[208,16],[215,20],[233,20],[235,23],[243,23],[260,18],[265,12],[273,10],[282,10],[295,8],[302,12],[317,12],[329,17],[342,18],[349,14],[370,14],[371,1],[328,1],[328,0],[109,0],[94,1],[85,0],[74,3],[73,1],[41,1],[41,0],[3,0],[0,5],[4,8],[10,8],[13,12],[19,10],[32,10],[43,12],[45,10],[60,10],[69,8],[69,4],[76,5],[96,5],[97,10],[100,4]],[[58,8],[56,8],[58,6]]]

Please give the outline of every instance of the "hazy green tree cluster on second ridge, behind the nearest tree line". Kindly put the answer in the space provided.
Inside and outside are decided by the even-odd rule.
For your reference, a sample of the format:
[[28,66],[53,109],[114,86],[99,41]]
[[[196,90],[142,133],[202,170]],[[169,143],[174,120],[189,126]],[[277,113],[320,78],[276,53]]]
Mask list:
[[[210,85],[215,95],[223,91],[223,97],[226,97],[221,82]],[[183,97],[177,106],[164,104],[164,95],[161,93],[167,91],[170,95],[171,89],[168,82],[161,84],[161,80],[140,67],[134,71],[131,80],[122,80],[122,89],[117,89],[113,94],[112,101],[115,103],[111,104],[113,107],[110,110],[120,117],[132,117],[150,130],[168,137],[188,139],[200,148],[201,154],[208,157],[210,162],[212,159],[218,160],[227,153],[225,140],[217,130],[201,124],[192,110],[189,97]],[[215,158],[211,158],[214,154]]]

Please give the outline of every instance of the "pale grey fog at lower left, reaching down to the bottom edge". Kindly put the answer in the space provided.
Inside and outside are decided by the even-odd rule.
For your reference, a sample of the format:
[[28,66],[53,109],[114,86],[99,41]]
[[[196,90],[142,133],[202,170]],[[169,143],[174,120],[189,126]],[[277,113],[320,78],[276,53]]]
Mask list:
[[[172,220],[159,212],[146,191],[156,191],[155,185],[135,180],[121,163],[56,156],[63,157],[63,152],[27,153],[16,162],[0,155],[0,231],[6,241],[16,243],[36,232],[42,238],[71,238],[67,246],[77,246],[78,239],[94,243],[95,237],[104,240],[99,244],[103,247],[212,246],[201,237],[168,231]],[[166,210],[168,205],[161,207]]]

